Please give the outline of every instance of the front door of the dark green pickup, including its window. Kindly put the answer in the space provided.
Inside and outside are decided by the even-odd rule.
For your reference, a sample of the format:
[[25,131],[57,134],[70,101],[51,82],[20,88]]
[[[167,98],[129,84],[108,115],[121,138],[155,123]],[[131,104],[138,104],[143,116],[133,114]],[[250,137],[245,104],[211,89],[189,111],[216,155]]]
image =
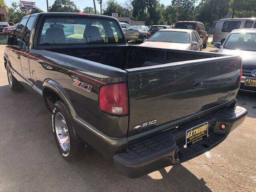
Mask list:
[[28,17],[23,18],[20,21],[13,35],[12,45],[9,46],[11,50],[11,54],[9,56],[10,63],[12,65],[13,70],[17,72],[20,76],[22,76],[22,69],[20,66],[20,48],[22,45],[22,36],[23,36],[24,27],[26,26],[27,21],[28,21]]

